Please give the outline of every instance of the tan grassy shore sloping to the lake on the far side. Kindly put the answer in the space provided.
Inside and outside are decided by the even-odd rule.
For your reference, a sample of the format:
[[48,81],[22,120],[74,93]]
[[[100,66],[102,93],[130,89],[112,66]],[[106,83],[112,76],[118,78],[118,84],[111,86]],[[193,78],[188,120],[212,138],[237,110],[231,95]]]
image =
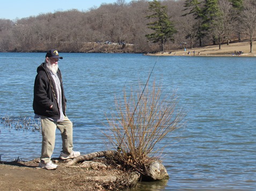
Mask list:
[[[250,53],[250,44],[248,42],[230,43],[229,45],[221,45],[221,50],[218,49],[218,45],[209,45],[207,47],[193,48],[193,49],[179,49],[168,50],[166,52],[158,52],[156,54],[148,54],[154,56],[244,56],[244,57],[256,57],[256,42],[253,42],[253,49],[255,51]],[[252,49],[252,50],[253,50]],[[195,51],[195,54],[194,54]],[[243,51],[243,54],[235,54],[236,52]],[[190,54],[188,54],[190,52]]]

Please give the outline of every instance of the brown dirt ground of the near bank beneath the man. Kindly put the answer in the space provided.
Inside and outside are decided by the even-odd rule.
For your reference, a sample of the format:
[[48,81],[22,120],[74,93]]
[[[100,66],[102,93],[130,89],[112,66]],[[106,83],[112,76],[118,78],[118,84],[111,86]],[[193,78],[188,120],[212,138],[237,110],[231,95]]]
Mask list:
[[56,170],[30,162],[0,162],[0,190],[124,190],[128,174],[117,168],[88,169],[54,161]]

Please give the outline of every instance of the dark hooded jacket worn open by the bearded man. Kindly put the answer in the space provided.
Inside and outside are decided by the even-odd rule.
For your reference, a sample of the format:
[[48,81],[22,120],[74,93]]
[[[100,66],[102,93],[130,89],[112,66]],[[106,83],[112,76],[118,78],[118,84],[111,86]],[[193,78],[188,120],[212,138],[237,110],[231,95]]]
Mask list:
[[[57,91],[54,80],[50,74],[50,70],[47,68],[46,63],[42,63],[37,69],[37,75],[34,83],[34,100],[33,109],[35,114],[40,116],[56,118],[60,116],[60,110],[57,103]],[[62,108],[65,115],[66,98],[64,95],[61,71],[57,71],[58,78],[61,82],[62,92]],[[50,109],[50,106],[53,108]]]

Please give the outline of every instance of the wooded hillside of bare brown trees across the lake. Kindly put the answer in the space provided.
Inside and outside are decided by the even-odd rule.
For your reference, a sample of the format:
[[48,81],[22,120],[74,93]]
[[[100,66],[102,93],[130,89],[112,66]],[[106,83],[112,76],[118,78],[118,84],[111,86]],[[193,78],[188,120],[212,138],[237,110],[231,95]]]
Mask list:
[[[177,33],[165,50],[254,40],[254,0],[164,0]],[[83,7],[81,7],[83,8]],[[117,0],[98,8],[56,11],[17,20],[0,19],[0,51],[156,52],[147,40],[149,1]]]

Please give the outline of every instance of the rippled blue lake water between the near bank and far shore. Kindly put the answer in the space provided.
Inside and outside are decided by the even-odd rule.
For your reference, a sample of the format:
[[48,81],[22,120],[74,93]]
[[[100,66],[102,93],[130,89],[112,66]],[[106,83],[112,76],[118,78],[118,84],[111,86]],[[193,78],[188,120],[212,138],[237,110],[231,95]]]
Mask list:
[[[173,132],[163,151],[169,180],[142,183],[140,190],[255,190],[256,58],[155,57],[140,54],[61,54],[67,115],[74,123],[74,150],[106,150],[106,114],[126,86],[150,77],[164,94],[177,95],[186,127]],[[45,53],[0,53],[0,117],[32,118],[36,68]],[[149,82],[149,83],[150,83]],[[1,124],[2,161],[39,158],[40,132]],[[53,157],[61,151],[56,134]]]

